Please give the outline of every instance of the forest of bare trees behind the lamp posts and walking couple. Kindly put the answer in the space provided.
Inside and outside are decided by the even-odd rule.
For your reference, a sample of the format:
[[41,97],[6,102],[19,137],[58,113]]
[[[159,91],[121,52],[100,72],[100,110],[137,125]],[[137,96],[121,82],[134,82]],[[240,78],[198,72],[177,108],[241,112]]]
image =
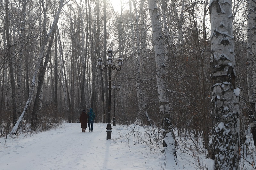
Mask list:
[[[97,61],[106,65],[112,49],[114,64],[124,61],[121,71],[112,71],[121,85],[115,93],[117,124],[202,138],[216,163],[211,137],[225,117],[223,111],[218,118],[227,107],[224,93],[237,94],[239,88],[240,100],[234,95],[225,110],[236,112],[238,123],[229,128],[236,129],[237,148],[245,145],[247,129],[256,140],[256,4],[227,2],[219,7],[219,1],[208,0],[0,1],[0,137],[78,122],[81,110],[90,107],[95,122],[106,123],[108,71],[100,71]],[[216,60],[217,53],[225,55]]]

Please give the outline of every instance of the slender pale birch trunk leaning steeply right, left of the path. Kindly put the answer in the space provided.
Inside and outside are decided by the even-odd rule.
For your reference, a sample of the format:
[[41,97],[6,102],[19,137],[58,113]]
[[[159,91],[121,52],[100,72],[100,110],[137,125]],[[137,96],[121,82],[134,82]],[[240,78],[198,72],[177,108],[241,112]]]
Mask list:
[[32,98],[33,98],[34,89],[35,89],[35,85],[36,85],[36,77],[37,77],[37,73],[38,73],[38,70],[39,70],[39,67],[40,67],[40,63],[41,63],[42,58],[43,58],[43,55],[44,55],[44,50],[45,50],[45,48],[46,48],[46,43],[47,43],[47,41],[49,40],[49,37],[50,37],[50,35],[52,34],[52,30],[53,30],[53,28],[54,28],[54,26],[55,26],[55,24],[56,24],[56,22],[57,22],[57,20],[58,20],[58,18],[59,18],[59,16],[60,16],[60,12],[61,12],[62,7],[63,7],[63,2],[64,2],[64,0],[61,0],[61,1],[60,1],[60,4],[61,4],[61,5],[59,6],[57,15],[55,16],[54,21],[53,21],[52,26],[51,26],[51,29],[49,30],[47,36],[45,37],[44,42],[43,42],[43,45],[42,45],[42,47],[41,47],[40,55],[39,55],[39,58],[38,58],[38,60],[37,60],[36,67],[35,67],[35,72],[34,72],[34,75],[33,75],[32,81],[31,81],[31,85],[30,85],[28,101],[26,102],[26,105],[25,105],[25,107],[24,107],[24,110],[23,110],[22,114],[20,115],[18,121],[16,122],[16,124],[15,124],[14,127],[12,128],[12,131],[11,131],[10,135],[17,133],[17,131],[19,130],[20,125],[21,125],[21,123],[22,123],[22,121],[23,121],[23,119],[24,119],[24,116],[25,116],[25,115],[27,114],[27,112],[28,112],[28,108],[29,108],[30,103],[31,103]]

